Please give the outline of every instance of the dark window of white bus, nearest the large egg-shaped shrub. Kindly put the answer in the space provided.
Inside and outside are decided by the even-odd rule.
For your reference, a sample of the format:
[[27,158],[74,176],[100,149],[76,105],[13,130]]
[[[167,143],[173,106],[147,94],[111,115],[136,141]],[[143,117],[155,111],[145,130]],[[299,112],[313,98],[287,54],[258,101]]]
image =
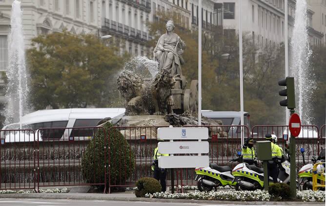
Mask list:
[[[76,119],[74,127],[96,127],[101,119]],[[94,129],[72,129],[69,137],[93,137]]]

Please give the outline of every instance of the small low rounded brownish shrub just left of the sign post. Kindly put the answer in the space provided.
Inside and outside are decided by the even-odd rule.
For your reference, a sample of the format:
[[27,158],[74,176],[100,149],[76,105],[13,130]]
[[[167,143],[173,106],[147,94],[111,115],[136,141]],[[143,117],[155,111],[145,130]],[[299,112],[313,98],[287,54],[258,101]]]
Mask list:
[[143,177],[139,179],[136,182],[136,186],[136,197],[145,197],[146,193],[154,194],[155,192],[161,192],[162,190],[160,182],[151,177]]

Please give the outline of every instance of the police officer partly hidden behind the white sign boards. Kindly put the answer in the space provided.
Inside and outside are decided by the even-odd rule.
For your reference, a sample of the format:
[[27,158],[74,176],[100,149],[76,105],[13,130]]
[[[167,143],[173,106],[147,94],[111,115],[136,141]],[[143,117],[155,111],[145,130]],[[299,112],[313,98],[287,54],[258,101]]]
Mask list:
[[[163,141],[163,140],[158,139],[158,141]],[[154,157],[153,157],[154,160],[152,162],[151,169],[153,170],[154,173],[153,177],[161,183],[162,192],[165,192],[166,191],[166,169],[159,168],[158,158],[160,156],[169,156],[169,154],[161,154],[159,152],[159,148],[157,147],[154,150]]]

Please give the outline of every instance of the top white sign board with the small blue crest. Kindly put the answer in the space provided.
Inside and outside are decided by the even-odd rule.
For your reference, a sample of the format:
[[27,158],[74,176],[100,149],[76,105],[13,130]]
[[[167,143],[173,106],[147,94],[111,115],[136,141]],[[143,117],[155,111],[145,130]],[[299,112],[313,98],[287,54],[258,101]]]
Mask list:
[[208,139],[206,127],[162,127],[157,129],[158,139]]

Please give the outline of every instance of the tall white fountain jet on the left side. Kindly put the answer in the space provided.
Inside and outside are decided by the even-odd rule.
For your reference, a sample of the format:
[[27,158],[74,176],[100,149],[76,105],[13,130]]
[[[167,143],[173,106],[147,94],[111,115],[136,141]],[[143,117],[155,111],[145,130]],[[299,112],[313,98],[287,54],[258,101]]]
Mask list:
[[[20,1],[14,0],[11,10],[11,31],[8,37],[8,71],[5,124],[20,122],[27,110],[27,71]],[[21,128],[21,125],[20,125]]]

